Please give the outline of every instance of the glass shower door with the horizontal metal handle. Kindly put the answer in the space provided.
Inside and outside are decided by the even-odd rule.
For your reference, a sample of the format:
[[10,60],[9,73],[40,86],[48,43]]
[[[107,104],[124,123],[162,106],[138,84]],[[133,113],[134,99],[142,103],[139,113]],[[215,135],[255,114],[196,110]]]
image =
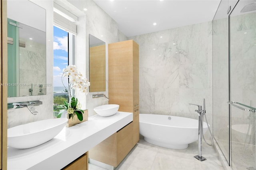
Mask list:
[[[256,0],[240,0],[229,18],[230,101],[247,110],[256,107],[256,5],[246,6],[251,3]],[[230,107],[231,164],[239,170],[255,170],[256,113],[234,105]]]

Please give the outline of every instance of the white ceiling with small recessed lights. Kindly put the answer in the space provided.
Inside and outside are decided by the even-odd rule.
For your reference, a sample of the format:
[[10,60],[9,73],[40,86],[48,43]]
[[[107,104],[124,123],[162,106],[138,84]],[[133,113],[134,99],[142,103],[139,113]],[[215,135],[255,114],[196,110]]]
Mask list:
[[[220,0],[94,0],[127,37],[211,21]],[[156,26],[153,23],[156,23]]]

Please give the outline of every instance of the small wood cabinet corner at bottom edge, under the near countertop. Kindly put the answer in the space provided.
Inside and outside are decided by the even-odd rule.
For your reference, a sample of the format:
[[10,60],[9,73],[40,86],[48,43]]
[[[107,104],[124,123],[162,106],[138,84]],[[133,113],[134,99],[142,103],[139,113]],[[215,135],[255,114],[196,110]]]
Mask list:
[[74,160],[62,170],[88,170],[88,152]]

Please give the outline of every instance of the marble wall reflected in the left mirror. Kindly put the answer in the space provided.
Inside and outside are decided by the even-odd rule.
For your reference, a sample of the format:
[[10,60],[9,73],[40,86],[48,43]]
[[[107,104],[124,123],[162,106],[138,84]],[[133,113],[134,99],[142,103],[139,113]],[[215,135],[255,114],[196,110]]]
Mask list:
[[[19,47],[20,96],[31,95],[29,89],[33,90],[32,95],[46,95],[46,45],[32,40],[23,41],[26,47]],[[43,85],[42,88],[39,84]]]

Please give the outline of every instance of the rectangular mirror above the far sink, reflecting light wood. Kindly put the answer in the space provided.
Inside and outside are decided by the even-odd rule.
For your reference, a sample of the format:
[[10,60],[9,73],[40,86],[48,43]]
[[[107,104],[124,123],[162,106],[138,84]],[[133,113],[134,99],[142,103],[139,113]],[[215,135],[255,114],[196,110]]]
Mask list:
[[106,91],[106,43],[89,34],[89,44],[89,91]]

